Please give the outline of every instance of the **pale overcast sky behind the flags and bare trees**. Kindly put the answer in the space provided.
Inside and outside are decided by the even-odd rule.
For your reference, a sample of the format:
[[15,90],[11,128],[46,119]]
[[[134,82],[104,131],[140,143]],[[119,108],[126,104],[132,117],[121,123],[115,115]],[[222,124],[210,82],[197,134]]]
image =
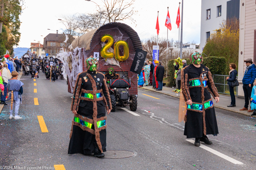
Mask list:
[[[167,6],[172,23],[172,30],[168,31],[168,39],[178,40],[179,29],[176,25],[176,17],[179,7],[179,2],[182,0],[136,0],[134,3],[135,10],[138,11],[133,18],[136,24],[131,24],[130,21],[125,21],[127,25],[132,27],[139,35],[141,40],[145,40],[156,34],[156,19],[157,11],[159,11],[159,36],[167,37],[167,27],[165,20],[167,16]],[[94,0],[98,5],[103,5],[102,1]],[[43,38],[49,33],[56,33],[64,26],[59,22],[59,18],[63,15],[73,15],[76,13],[93,12],[95,8],[99,8],[93,2],[85,0],[25,0],[26,8],[20,16],[20,42],[18,47],[30,47],[30,43],[40,41],[43,43]],[[182,8],[182,4],[180,4]],[[196,41],[200,43],[200,19],[201,19],[201,0],[184,0],[183,13],[183,42]],[[180,9],[181,10],[181,9]],[[180,11],[181,15],[181,11]],[[180,17],[181,18],[181,17]],[[41,36],[43,35],[43,36]],[[36,41],[34,41],[36,40]]]

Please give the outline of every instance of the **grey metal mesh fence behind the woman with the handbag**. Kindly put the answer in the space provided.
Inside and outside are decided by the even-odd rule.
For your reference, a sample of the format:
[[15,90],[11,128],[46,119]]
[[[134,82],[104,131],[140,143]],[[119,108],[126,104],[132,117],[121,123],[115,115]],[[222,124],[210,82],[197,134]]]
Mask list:
[[[228,81],[226,80],[227,77],[229,77],[229,76],[228,75],[217,75],[217,74],[214,74],[212,76],[215,87],[217,88],[218,93],[220,93],[220,94],[230,95],[229,85],[227,84]],[[235,96],[238,96],[238,86],[234,87],[234,94],[235,94]]]

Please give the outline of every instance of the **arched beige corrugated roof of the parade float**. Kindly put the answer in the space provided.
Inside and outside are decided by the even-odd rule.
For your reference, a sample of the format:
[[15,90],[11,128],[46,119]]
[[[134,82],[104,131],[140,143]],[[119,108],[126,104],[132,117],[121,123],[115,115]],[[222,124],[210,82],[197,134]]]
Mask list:
[[85,48],[85,50],[90,50],[93,36],[97,33],[98,30],[100,30],[100,28],[104,29],[104,27],[106,26],[112,26],[113,28],[122,28],[131,38],[134,48],[142,49],[141,40],[137,32],[134,31],[129,25],[120,22],[110,22],[81,35],[71,43],[72,47],[76,48],[78,46],[79,48]]

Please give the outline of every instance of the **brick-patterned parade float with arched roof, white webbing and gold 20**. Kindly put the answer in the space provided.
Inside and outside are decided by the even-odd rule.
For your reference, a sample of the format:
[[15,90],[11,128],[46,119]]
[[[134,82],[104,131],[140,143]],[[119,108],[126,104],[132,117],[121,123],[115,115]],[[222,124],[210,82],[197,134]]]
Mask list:
[[111,22],[77,37],[57,58],[65,66],[63,76],[69,93],[73,93],[77,75],[87,70],[84,60],[93,56],[99,63],[97,71],[106,74],[113,68],[120,79],[130,80],[129,96],[137,97],[137,74],[142,70],[146,54],[137,32],[124,23]]

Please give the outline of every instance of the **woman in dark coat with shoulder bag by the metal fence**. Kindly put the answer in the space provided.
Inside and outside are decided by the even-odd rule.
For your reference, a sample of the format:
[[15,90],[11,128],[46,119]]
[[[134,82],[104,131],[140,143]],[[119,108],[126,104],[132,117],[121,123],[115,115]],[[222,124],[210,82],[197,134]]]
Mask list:
[[234,63],[229,64],[229,77],[226,78],[226,80],[228,81],[228,85],[229,85],[229,92],[230,92],[230,96],[231,96],[231,104],[228,107],[236,107],[236,97],[234,94],[234,87],[231,86],[231,82],[236,80],[237,77],[237,70],[235,70],[237,68],[237,65]]

